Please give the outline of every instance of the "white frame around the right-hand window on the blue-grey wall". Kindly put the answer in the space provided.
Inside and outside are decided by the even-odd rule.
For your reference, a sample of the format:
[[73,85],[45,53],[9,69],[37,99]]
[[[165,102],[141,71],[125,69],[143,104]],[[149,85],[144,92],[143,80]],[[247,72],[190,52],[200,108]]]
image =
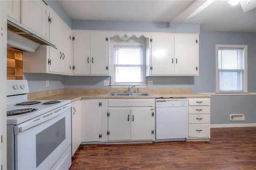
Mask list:
[[[219,48],[243,48],[244,49],[244,91],[238,92],[238,91],[220,91],[219,90],[219,70],[218,70],[218,49]],[[230,94],[238,94],[238,93],[248,93],[247,91],[247,45],[223,45],[223,44],[217,44],[216,45],[216,93],[230,93]]]

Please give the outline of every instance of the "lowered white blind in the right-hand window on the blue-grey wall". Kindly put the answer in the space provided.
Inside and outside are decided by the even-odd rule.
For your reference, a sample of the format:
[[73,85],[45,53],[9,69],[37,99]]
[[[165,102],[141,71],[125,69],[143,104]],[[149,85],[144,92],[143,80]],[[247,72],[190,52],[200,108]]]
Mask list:
[[220,92],[244,91],[244,49],[218,48]]

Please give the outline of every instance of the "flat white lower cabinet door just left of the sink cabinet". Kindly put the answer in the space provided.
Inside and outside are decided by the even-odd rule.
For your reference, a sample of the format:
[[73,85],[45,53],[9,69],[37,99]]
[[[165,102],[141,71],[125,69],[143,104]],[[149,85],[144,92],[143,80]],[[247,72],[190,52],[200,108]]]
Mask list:
[[82,100],[82,142],[100,141],[100,99]]

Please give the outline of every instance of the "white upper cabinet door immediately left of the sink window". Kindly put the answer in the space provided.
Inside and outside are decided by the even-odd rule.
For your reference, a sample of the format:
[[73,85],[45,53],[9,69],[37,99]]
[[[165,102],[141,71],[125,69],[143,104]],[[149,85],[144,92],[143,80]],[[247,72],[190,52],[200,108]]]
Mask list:
[[91,74],[107,75],[108,41],[106,34],[91,34]]

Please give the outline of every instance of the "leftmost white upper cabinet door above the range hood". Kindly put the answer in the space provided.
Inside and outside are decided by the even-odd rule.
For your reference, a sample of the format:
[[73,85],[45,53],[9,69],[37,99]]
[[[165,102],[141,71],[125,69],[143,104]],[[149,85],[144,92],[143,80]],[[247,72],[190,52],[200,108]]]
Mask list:
[[7,1],[7,16],[20,23],[20,0]]

